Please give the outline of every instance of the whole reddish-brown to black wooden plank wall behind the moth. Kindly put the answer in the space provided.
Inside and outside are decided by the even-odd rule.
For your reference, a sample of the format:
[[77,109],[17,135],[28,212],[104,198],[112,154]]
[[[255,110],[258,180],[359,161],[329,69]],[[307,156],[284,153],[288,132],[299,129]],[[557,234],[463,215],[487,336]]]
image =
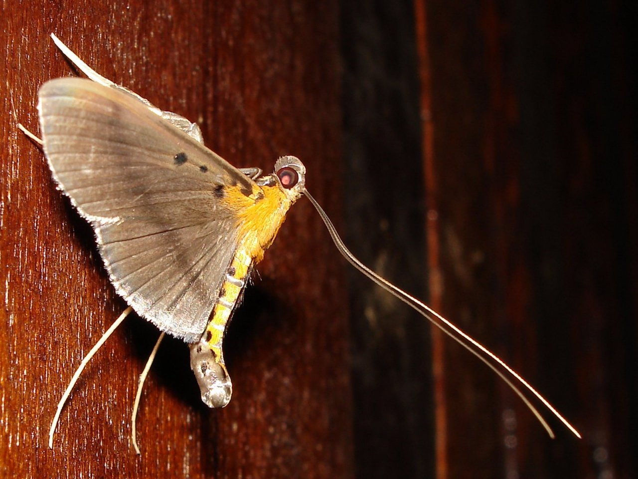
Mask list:
[[[0,471],[15,477],[631,478],[638,418],[636,7],[450,3],[3,3]],[[549,439],[497,377],[336,254],[300,200],[226,339],[228,407],[198,398],[131,317],[38,148],[47,79],[89,65],[198,121],[207,145],[308,188],[353,252],[427,298],[583,434]]]

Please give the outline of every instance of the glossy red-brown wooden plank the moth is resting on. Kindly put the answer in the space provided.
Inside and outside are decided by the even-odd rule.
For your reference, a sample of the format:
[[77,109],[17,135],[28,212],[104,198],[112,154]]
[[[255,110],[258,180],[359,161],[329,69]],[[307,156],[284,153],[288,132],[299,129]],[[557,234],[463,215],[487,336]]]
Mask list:
[[142,455],[135,456],[131,403],[158,331],[131,317],[85,370],[48,450],[48,425],[71,373],[125,305],[108,283],[91,229],[54,188],[40,150],[15,127],[21,121],[37,132],[38,87],[73,74],[48,38],[54,32],[105,77],[198,121],[207,145],[235,165],[269,171],[280,155],[303,158],[308,188],[335,213],[337,13],[335,2],[306,1],[3,7],[2,475],[352,474],[343,264],[304,201],[230,326],[230,406],[210,411],[201,404],[188,349],[168,341],[145,388]]

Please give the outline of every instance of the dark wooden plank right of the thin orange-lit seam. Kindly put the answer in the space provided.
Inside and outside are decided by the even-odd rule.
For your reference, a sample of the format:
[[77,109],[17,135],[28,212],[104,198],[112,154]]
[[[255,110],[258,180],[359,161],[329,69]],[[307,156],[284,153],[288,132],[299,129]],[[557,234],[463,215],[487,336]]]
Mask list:
[[584,435],[552,422],[551,441],[498,378],[434,337],[437,477],[633,476],[632,8],[415,5],[441,312]]

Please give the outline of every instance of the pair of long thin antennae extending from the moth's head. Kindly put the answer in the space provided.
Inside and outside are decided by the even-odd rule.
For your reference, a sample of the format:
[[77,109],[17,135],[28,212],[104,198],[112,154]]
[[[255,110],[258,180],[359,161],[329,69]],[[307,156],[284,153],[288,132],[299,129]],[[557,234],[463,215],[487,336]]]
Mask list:
[[[518,381],[520,384],[523,384],[524,388],[531,392],[535,397],[537,397],[537,399],[540,400],[540,402],[542,402],[542,404],[544,404],[544,406],[547,407],[547,409],[549,409],[549,411],[551,411],[551,413],[553,413],[554,416],[556,416],[556,418],[558,418],[567,427],[567,429],[569,429],[574,434],[574,436],[578,437],[579,439],[581,438],[581,434],[575,429],[575,427],[572,426],[565,418],[563,418],[563,416],[558,411],[556,411],[556,408],[549,404],[549,401],[547,401],[547,399],[542,397],[542,395],[540,395],[540,393],[538,393],[537,390],[535,390],[530,383],[525,381],[523,377],[521,377],[515,370],[505,364],[505,362],[501,360],[501,358],[496,356],[496,354],[492,353],[492,351],[489,351],[489,349],[480,344],[477,340],[464,333],[463,330],[457,328],[457,326],[454,326],[454,324],[445,319],[445,317],[438,314],[432,308],[428,307],[426,304],[422,303],[422,301],[417,300],[417,298],[414,298],[410,294],[406,293],[405,291],[403,291],[403,289],[396,287],[385,278],[380,277],[378,274],[375,273],[375,271],[372,271],[365,264],[360,262],[355,257],[355,255],[353,255],[350,250],[346,248],[346,245],[339,237],[339,234],[330,221],[330,218],[325,213],[325,211],[323,211],[318,202],[316,202],[311,194],[309,194],[308,190],[304,188],[303,194],[308,197],[309,201],[313,204],[313,206],[319,213],[319,216],[322,218],[323,223],[325,223],[328,232],[332,237],[332,241],[334,241],[334,244],[339,250],[339,253],[341,253],[343,257],[345,257],[345,259],[347,259],[348,262],[352,264],[352,266],[357,268],[357,270],[361,271],[364,275],[366,275],[376,284],[385,289],[385,291],[388,291],[388,293],[393,294],[394,296],[399,298],[399,300],[415,309],[421,316],[425,317],[428,321],[437,326],[441,331],[456,340],[456,342],[461,344],[461,346],[463,346],[465,349],[470,351],[470,353],[474,354],[475,356],[477,356],[477,358],[486,363],[486,365],[496,374],[498,374],[498,376],[503,379],[503,381],[505,381],[510,389],[512,389],[512,391],[514,391],[521,398],[521,400],[523,400],[528,409],[530,409],[530,411],[536,416],[538,422],[540,422],[545,430],[547,430],[547,434],[549,434],[550,437],[554,437],[554,432],[551,427],[549,427],[542,415],[538,412],[538,409],[536,409],[536,407],[531,404],[530,400],[527,399],[527,397],[516,386],[516,384],[512,383],[510,377],[505,376],[505,373],[516,379],[516,381]],[[491,361],[494,361],[496,365],[494,365]],[[504,372],[503,370],[499,370],[498,367],[501,367]]]

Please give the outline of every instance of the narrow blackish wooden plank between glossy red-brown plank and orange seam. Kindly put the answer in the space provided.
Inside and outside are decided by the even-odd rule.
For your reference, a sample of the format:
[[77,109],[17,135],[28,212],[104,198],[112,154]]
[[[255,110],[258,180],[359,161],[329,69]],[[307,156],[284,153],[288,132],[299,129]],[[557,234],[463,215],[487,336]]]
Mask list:
[[[346,238],[368,266],[424,298],[419,79],[410,2],[343,3]],[[429,325],[353,271],[352,384],[361,478],[428,477]]]

